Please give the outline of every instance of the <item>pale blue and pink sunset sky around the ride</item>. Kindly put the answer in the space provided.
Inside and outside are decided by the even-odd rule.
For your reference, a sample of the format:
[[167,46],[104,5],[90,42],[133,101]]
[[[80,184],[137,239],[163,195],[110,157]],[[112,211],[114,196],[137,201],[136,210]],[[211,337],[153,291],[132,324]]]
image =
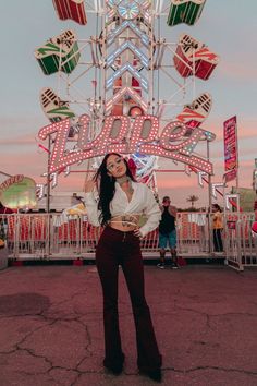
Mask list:
[[[14,10],[15,8],[15,10]],[[15,12],[14,12],[15,11]],[[207,0],[200,20],[193,27],[179,25],[164,27],[166,37],[176,41],[181,33],[188,33],[204,41],[220,56],[220,62],[207,82],[196,82],[197,95],[206,92],[212,96],[212,109],[204,129],[217,136],[210,146],[213,162],[212,182],[223,176],[223,122],[237,117],[240,186],[252,188],[254,160],[257,158],[257,2],[248,0],[247,7],[235,0]],[[47,154],[38,148],[37,133],[49,124],[39,101],[42,87],[56,88],[57,79],[42,74],[34,50],[49,37],[68,28],[81,38],[88,37],[89,25],[82,27],[72,21],[61,22],[52,1],[25,0],[0,3],[0,22],[8,33],[2,41],[1,105],[0,105],[0,171],[25,174],[37,183],[47,168]],[[89,23],[88,23],[89,24]],[[88,84],[88,93],[90,84]],[[189,100],[188,100],[189,101]],[[184,169],[172,160],[161,159],[160,169]],[[4,180],[0,176],[0,182]],[[197,176],[184,172],[157,172],[159,195],[169,194],[174,205],[186,207],[186,198],[195,194],[198,206],[207,205],[208,188],[198,185]],[[52,194],[82,193],[83,173],[61,176]],[[227,188],[227,192],[232,184]]]

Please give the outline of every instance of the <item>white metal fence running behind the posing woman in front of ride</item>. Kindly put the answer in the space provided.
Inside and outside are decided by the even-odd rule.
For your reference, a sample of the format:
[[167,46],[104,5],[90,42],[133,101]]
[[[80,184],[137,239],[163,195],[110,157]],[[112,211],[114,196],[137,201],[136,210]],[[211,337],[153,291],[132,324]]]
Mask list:
[[[257,266],[257,242],[250,227],[253,213],[224,215],[224,252],[213,251],[212,219],[206,213],[179,213],[176,217],[178,254],[184,257],[222,257],[237,269]],[[7,241],[9,258],[74,260],[95,258],[101,229],[90,226],[85,216],[61,214],[0,215],[0,232]],[[1,236],[0,236],[1,237]],[[158,230],[142,240],[145,258],[159,256]]]

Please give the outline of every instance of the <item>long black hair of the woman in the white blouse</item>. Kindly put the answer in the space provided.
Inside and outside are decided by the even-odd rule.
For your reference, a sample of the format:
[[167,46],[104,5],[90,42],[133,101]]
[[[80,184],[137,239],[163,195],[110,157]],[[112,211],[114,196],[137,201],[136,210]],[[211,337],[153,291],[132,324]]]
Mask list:
[[[99,202],[98,202],[98,209],[100,210],[100,218],[99,221],[102,226],[107,225],[107,222],[111,218],[110,212],[110,202],[112,201],[114,193],[115,193],[115,178],[108,174],[107,170],[107,159],[110,156],[118,156],[122,157],[119,153],[108,153],[101,161],[94,180],[98,182],[98,193],[99,193]],[[126,165],[126,176],[128,176],[132,181],[135,181],[131,169],[128,167],[127,160],[125,158],[124,162]]]

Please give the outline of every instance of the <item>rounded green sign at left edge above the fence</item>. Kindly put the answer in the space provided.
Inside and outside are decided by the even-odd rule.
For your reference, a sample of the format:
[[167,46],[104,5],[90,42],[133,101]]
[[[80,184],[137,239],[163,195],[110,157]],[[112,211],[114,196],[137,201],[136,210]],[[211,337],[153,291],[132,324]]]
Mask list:
[[36,182],[29,177],[17,174],[0,185],[0,201],[12,209],[30,209],[37,206]]

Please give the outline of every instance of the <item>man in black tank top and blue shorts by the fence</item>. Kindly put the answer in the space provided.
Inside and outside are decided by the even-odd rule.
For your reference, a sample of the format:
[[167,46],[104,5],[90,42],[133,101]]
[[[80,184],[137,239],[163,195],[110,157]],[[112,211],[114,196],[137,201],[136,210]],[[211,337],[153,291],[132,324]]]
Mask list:
[[171,205],[169,196],[164,196],[161,205],[161,220],[159,224],[159,248],[160,248],[160,263],[157,264],[158,268],[163,269],[166,267],[166,250],[169,245],[171,252],[171,268],[176,269],[176,229],[175,217],[176,207]]

